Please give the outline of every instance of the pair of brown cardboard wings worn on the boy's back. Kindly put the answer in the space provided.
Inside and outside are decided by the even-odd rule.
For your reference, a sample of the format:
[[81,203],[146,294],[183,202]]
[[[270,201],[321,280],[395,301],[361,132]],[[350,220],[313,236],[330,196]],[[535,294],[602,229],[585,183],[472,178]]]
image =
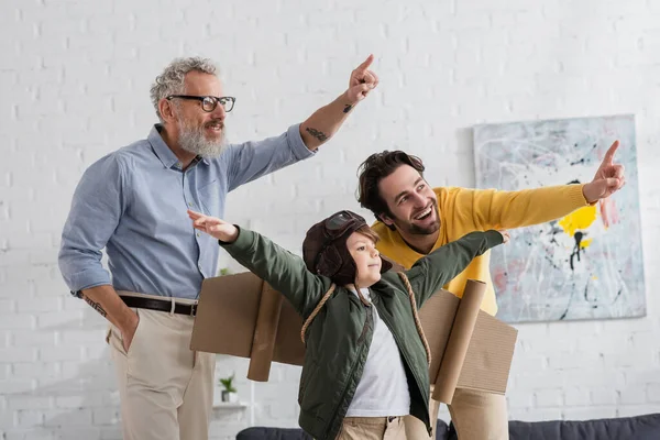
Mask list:
[[[504,394],[517,330],[480,310],[485,284],[470,280],[463,298],[447,290],[420,309],[431,349],[433,398],[451,403],[457,387]],[[268,380],[272,362],[302,365],[302,318],[252,273],[205,279],[190,349],[250,359],[248,377]]]

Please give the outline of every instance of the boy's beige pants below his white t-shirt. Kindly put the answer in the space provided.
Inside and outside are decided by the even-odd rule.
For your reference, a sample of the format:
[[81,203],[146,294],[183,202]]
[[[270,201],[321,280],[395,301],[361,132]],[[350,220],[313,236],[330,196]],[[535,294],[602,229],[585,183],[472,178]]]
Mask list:
[[403,417],[346,417],[337,440],[405,440]]

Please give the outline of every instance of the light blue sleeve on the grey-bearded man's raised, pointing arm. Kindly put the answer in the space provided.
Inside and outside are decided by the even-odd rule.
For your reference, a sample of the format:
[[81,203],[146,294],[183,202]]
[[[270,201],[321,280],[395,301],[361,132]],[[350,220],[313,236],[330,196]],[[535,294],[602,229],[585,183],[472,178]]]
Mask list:
[[227,162],[229,190],[315,155],[302,142],[300,125],[292,125],[279,136],[230,145]]

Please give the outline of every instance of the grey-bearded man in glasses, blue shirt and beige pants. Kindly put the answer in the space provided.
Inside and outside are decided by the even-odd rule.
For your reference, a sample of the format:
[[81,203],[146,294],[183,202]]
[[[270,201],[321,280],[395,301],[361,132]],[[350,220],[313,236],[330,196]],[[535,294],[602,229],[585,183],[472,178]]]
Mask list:
[[[186,209],[221,217],[230,190],[311,156],[378,84],[372,62],[301,124],[227,145],[224,118],[235,98],[224,95],[208,59],[175,59],[151,89],[161,123],[84,174],[59,268],[72,293],[111,323],[124,439],[208,438],[216,356],[189,344],[201,282],[216,275],[219,248],[195,233]],[[101,266],[103,248],[112,279]]]

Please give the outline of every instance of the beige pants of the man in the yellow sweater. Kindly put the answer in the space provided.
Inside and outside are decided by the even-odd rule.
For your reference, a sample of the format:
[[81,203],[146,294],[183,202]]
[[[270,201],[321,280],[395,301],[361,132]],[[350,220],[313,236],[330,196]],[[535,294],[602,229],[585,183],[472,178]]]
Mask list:
[[[432,389],[431,389],[432,394]],[[499,394],[472,389],[455,391],[449,413],[457,428],[459,440],[508,440],[508,413],[506,398]],[[429,403],[429,414],[436,439],[436,420],[440,403]],[[404,418],[407,440],[428,439],[424,424],[413,416]]]

